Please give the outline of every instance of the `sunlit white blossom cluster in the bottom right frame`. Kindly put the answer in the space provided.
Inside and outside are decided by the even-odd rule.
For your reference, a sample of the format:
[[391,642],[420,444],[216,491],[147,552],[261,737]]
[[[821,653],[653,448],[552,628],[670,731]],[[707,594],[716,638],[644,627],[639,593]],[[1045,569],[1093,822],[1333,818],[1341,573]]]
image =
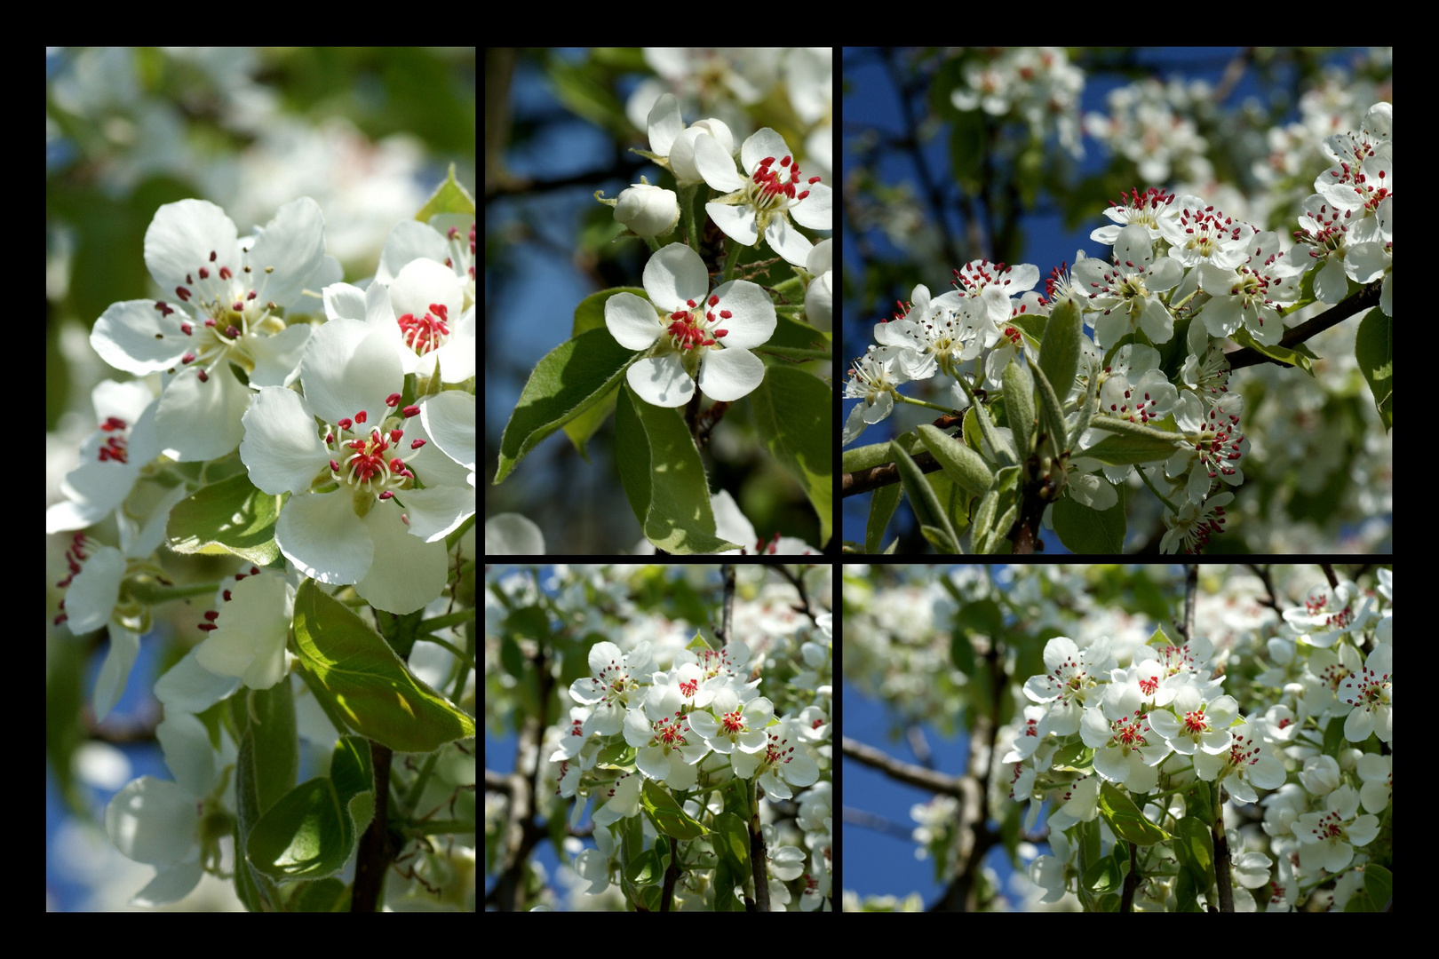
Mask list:
[[[1285,610],[1263,644],[1268,666],[1235,694],[1225,692],[1229,657],[1203,637],[1156,633],[1124,656],[1107,637],[1049,640],[1046,671],[1025,683],[1030,705],[1000,759],[1010,797],[1030,802],[1026,828],[1049,808],[1052,854],[1030,864],[1043,901],[1072,889],[1076,844],[1066,831],[1097,818],[1101,782],[1127,789],[1163,824],[1191,814],[1184,794],[1196,779],[1265,809],[1262,848],[1226,817],[1230,847],[1242,851],[1236,907],[1253,909],[1258,896],[1268,909],[1292,909],[1331,874],[1344,874],[1337,896],[1350,894],[1393,781],[1387,748],[1374,745],[1393,739],[1392,577],[1381,569],[1379,579],[1370,594],[1325,584]],[[1353,745],[1328,746],[1331,722]],[[1148,906],[1171,904],[1173,886],[1151,877]]]

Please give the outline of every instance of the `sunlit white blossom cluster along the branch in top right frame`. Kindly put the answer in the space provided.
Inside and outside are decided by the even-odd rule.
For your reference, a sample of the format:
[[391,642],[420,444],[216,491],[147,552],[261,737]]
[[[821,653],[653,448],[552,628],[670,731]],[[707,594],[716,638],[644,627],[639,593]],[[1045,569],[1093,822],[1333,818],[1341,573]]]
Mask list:
[[[1393,315],[1392,125],[1392,105],[1376,104],[1363,129],[1324,138],[1331,165],[1302,203],[1294,246],[1200,196],[1135,188],[1091,234],[1111,254],[1076,253],[1072,267],[1050,272],[1043,292],[1036,266],[987,260],[954,270],[951,292],[915,286],[892,319],[875,325],[875,344],[855,361],[845,395],[862,403],[850,410],[843,441],[886,418],[895,403],[911,401],[899,391],[907,382],[953,380],[954,410],[970,408],[971,395],[1002,391],[1004,371],[1033,362],[1049,318],[1072,305],[1092,338],[1082,338],[1073,381],[1052,384],[1071,436],[1068,456],[1055,457],[1055,485],[1073,502],[1105,510],[1118,500],[1117,487],[1143,469],[1140,479],[1166,506],[1163,548],[1199,551],[1223,531],[1223,508],[1233,499],[1227,487],[1243,482],[1249,450],[1243,397],[1229,388],[1222,344],[1275,348],[1298,322],[1294,306],[1337,303],[1351,282],[1381,280],[1380,309]],[[1176,339],[1180,359],[1166,361],[1160,348],[1170,352]],[[999,436],[1007,440],[1012,426]],[[1143,456],[1086,456],[1112,434],[1157,446]],[[981,453],[1004,464],[1003,450]]]

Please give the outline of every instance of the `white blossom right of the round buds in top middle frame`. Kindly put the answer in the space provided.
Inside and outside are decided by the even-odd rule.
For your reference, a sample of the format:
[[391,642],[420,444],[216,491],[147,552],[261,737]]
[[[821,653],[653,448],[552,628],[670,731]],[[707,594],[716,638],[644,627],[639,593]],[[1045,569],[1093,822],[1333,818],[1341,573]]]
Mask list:
[[725,234],[754,246],[764,234],[766,243],[794,266],[804,266],[810,242],[790,224],[790,216],[812,230],[833,229],[833,194],[819,177],[806,178],[784,138],[766,127],[740,147],[744,178],[727,170],[704,170],[705,181],[715,190],[730,191],[705,211]]

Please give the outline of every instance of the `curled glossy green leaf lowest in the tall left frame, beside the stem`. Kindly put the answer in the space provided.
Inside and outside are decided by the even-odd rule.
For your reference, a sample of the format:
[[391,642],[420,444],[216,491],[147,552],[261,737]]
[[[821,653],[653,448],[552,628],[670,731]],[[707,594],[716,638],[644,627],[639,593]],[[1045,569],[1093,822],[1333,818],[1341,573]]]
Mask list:
[[373,815],[370,745],[358,736],[341,736],[330,775],[302,782],[266,809],[245,851],[271,878],[335,876]]

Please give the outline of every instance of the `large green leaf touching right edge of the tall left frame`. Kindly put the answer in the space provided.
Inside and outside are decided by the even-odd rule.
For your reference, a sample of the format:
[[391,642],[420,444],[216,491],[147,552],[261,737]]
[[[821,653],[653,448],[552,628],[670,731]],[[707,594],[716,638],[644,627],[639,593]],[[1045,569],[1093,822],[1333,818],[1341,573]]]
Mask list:
[[344,604],[307,579],[295,594],[305,682],[331,717],[396,752],[433,752],[475,735],[475,720],[422,683]]

